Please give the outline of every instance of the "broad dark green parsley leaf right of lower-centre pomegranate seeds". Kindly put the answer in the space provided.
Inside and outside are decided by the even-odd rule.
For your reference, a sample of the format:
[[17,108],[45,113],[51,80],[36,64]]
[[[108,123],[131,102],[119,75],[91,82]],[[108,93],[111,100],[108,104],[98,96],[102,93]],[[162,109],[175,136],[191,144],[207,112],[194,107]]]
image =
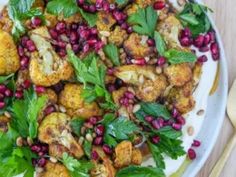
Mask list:
[[101,122],[105,126],[104,141],[109,146],[116,146],[119,141],[128,140],[130,135],[139,128],[125,117],[115,118],[113,114],[106,114]]

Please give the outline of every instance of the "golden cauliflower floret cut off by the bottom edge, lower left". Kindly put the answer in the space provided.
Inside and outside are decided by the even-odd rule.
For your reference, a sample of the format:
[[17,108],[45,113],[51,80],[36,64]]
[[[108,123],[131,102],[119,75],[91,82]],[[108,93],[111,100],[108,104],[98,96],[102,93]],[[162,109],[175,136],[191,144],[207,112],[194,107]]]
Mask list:
[[64,165],[48,161],[45,171],[39,173],[38,177],[70,177],[70,173]]

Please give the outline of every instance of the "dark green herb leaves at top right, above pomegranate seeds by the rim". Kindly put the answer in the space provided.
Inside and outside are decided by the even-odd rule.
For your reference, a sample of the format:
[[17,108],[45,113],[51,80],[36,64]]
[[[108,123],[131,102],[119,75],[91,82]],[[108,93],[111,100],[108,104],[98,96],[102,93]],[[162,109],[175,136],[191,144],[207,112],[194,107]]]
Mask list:
[[208,7],[197,3],[186,3],[182,12],[177,17],[181,23],[188,27],[193,36],[196,37],[200,33],[205,33],[210,30],[211,23],[207,16],[207,11],[211,11]]

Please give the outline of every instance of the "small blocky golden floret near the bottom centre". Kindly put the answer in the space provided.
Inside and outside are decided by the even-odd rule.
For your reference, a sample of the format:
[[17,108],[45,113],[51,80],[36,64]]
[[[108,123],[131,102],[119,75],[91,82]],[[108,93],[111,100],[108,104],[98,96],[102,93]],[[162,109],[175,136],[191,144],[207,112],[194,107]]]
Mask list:
[[132,143],[130,141],[123,141],[115,148],[114,166],[122,168],[128,166],[132,162]]

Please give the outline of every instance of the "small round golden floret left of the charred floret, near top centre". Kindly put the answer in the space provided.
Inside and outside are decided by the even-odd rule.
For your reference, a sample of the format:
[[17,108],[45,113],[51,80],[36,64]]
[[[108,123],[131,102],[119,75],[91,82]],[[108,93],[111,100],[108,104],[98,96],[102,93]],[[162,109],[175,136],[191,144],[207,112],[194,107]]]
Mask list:
[[113,43],[117,46],[121,46],[124,40],[128,37],[125,30],[121,29],[121,27],[117,26],[114,31],[111,32],[108,40],[110,43]]

